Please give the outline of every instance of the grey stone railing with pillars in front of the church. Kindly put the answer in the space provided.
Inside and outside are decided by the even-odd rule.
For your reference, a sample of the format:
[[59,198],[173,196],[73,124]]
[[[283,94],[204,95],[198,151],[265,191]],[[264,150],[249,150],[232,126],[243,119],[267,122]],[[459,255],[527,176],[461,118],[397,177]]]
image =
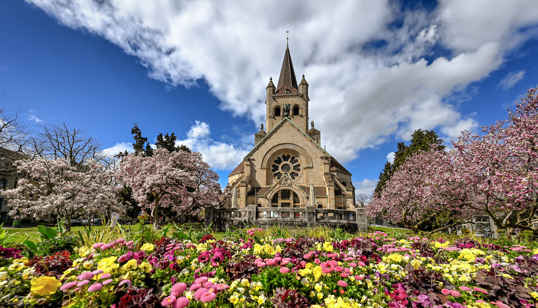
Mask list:
[[328,226],[342,228],[347,232],[366,231],[366,210],[357,208],[345,209],[306,207],[257,207],[249,205],[240,208],[206,208],[204,226],[213,222],[217,231],[225,231],[234,226],[268,227],[280,226],[314,227]]

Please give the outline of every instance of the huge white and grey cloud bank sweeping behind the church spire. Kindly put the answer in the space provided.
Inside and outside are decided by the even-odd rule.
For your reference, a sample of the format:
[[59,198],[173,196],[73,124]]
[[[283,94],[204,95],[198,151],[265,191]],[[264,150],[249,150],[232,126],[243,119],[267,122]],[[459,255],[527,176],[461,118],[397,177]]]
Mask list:
[[[26,1],[117,44],[151,78],[187,87],[206,80],[223,110],[255,125],[264,121],[265,86],[278,79],[289,28],[295,72],[310,84],[310,120],[342,162],[418,128],[449,138],[475,129],[447,97],[497,69],[538,22],[530,0],[442,0],[434,11],[401,11],[388,0]],[[188,140],[210,140],[209,127],[196,125]],[[210,159],[230,166],[210,149],[236,148],[203,144]]]

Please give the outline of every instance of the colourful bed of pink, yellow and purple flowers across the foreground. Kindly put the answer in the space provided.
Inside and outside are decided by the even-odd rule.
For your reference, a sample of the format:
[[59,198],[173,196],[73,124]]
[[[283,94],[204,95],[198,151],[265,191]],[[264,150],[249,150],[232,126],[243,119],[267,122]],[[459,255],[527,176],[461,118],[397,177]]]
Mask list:
[[31,260],[0,248],[0,306],[526,307],[538,248],[394,238],[118,239]]

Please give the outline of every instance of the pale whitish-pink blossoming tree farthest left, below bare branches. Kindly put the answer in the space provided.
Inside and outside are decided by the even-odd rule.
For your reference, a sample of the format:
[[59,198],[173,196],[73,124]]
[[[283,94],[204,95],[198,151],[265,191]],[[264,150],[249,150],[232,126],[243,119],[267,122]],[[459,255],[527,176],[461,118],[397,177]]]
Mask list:
[[77,166],[63,158],[18,160],[16,165],[22,178],[17,188],[5,192],[16,220],[56,213],[70,230],[72,218],[117,207],[118,188],[109,184],[114,173],[93,159]]

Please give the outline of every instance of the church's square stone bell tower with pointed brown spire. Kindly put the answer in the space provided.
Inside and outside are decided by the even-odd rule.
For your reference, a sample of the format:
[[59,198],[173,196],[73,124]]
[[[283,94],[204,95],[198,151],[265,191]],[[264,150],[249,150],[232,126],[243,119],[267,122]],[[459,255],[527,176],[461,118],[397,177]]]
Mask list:
[[288,117],[303,132],[308,131],[308,82],[305,75],[298,84],[293,69],[292,57],[286,44],[284,61],[280,69],[277,86],[273,78],[266,87],[266,123],[270,132],[284,117]]

